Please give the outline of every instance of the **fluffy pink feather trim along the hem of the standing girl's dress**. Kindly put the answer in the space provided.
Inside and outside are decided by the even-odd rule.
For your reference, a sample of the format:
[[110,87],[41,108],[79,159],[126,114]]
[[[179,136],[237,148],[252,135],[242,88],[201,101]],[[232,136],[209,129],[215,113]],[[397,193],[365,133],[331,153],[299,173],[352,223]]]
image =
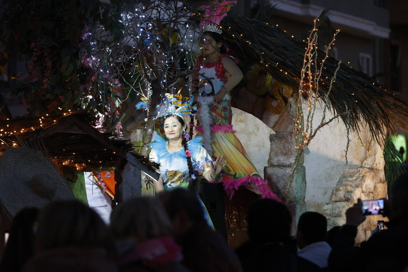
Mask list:
[[240,179],[223,178],[220,182],[222,182],[224,190],[230,196],[230,199],[233,197],[235,190],[238,190],[239,186],[245,186],[246,184],[251,183],[252,185],[258,186],[259,191],[262,194],[262,198],[270,198],[282,202],[282,200],[272,192],[271,188],[269,188],[268,181],[262,179],[261,177],[250,177],[246,175]]

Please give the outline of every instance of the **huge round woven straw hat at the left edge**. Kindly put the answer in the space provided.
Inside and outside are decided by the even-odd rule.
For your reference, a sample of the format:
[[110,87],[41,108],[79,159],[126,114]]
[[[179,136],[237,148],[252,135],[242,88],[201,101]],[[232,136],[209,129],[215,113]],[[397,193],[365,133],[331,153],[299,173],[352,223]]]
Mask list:
[[24,207],[41,208],[50,201],[75,199],[51,161],[23,147],[8,148],[0,157],[0,200],[11,216]]

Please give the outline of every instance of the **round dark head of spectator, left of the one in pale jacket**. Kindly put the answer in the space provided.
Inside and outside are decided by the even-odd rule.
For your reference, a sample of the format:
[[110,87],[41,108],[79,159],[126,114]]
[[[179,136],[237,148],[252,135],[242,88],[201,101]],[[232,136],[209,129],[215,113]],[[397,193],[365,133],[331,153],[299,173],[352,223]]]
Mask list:
[[283,203],[272,199],[254,202],[246,215],[249,238],[257,244],[287,241],[292,217]]

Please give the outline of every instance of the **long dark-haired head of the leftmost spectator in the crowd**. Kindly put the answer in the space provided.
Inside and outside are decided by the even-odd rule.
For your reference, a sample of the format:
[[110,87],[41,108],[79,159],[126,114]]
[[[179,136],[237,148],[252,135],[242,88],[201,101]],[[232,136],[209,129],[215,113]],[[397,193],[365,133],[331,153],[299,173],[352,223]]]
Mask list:
[[24,208],[14,216],[2,257],[4,271],[20,271],[35,253],[35,233],[38,208]]

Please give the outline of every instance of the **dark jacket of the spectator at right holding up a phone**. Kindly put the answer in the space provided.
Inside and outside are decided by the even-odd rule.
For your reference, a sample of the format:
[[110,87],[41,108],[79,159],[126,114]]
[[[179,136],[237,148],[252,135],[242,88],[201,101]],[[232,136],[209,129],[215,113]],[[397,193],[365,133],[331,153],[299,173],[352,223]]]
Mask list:
[[404,271],[408,265],[408,216],[386,223],[388,229],[373,234],[355,247],[357,228],[344,225],[329,256],[332,271]]

